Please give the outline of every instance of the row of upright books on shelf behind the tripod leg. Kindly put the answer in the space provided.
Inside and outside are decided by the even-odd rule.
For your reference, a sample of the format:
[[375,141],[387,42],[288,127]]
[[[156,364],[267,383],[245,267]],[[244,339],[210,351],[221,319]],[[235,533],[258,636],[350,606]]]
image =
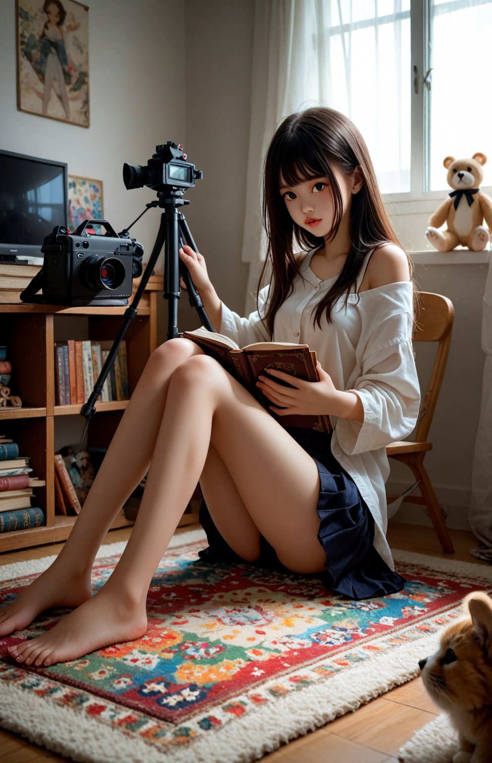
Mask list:
[[[56,405],[85,403],[97,381],[113,342],[55,343],[55,401]],[[128,400],[128,366],[126,342],[122,341],[110,373],[107,375],[101,401]]]

